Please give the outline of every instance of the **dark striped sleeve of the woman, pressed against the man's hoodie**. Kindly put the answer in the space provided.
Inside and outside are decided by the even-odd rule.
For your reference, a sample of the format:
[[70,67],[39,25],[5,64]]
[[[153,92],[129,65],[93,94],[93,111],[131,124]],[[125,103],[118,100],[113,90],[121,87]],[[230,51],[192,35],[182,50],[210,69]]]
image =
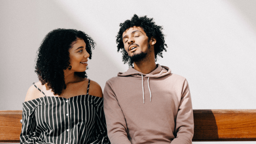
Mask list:
[[100,102],[96,111],[96,134],[97,139],[91,144],[110,144],[107,137],[107,126],[103,111],[103,101]]

